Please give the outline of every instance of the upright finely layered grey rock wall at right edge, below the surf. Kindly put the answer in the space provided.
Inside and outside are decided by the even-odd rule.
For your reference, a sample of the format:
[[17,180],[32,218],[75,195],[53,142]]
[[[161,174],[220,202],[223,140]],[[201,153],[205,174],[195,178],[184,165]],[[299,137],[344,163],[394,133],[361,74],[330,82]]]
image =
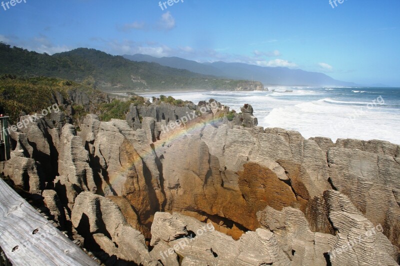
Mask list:
[[400,246],[400,208],[393,193],[399,187],[399,164],[390,155],[343,148],[329,149],[327,160],[333,186]]

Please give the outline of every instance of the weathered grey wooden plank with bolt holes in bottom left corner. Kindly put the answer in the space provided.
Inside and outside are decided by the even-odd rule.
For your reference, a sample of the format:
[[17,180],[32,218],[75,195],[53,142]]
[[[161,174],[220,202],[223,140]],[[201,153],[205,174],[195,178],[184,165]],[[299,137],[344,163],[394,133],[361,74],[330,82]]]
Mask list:
[[0,178],[0,246],[14,265],[97,265]]

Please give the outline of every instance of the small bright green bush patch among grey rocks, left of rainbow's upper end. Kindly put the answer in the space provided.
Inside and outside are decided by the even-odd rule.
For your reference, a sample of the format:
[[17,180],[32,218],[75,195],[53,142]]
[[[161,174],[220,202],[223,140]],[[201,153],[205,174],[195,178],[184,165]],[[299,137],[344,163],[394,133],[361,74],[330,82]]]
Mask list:
[[144,104],[144,98],[141,96],[133,96],[128,101],[112,100],[110,103],[102,103],[99,105],[99,115],[101,121],[110,121],[111,118],[125,119],[125,115],[129,112],[129,106],[139,106]]

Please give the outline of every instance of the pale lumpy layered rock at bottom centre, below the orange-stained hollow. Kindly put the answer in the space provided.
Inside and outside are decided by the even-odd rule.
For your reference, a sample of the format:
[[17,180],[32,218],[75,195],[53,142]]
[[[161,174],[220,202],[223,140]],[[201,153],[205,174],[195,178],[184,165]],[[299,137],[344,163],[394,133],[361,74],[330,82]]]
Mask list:
[[151,234],[156,240],[151,245],[162,262],[178,254],[184,258],[181,265],[290,265],[274,235],[264,229],[249,231],[235,241],[211,224],[176,213],[156,213]]

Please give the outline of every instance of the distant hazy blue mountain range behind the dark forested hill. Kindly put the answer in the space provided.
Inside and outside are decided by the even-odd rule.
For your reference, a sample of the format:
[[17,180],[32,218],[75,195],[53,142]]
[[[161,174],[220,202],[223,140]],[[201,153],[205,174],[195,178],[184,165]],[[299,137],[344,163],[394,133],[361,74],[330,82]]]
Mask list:
[[265,86],[356,86],[353,82],[335,80],[328,75],[287,67],[267,67],[245,63],[198,63],[179,57],[153,57],[146,54],[122,55],[132,61],[155,62],[163,66],[180,68],[204,75],[221,76],[233,79],[254,79]]

